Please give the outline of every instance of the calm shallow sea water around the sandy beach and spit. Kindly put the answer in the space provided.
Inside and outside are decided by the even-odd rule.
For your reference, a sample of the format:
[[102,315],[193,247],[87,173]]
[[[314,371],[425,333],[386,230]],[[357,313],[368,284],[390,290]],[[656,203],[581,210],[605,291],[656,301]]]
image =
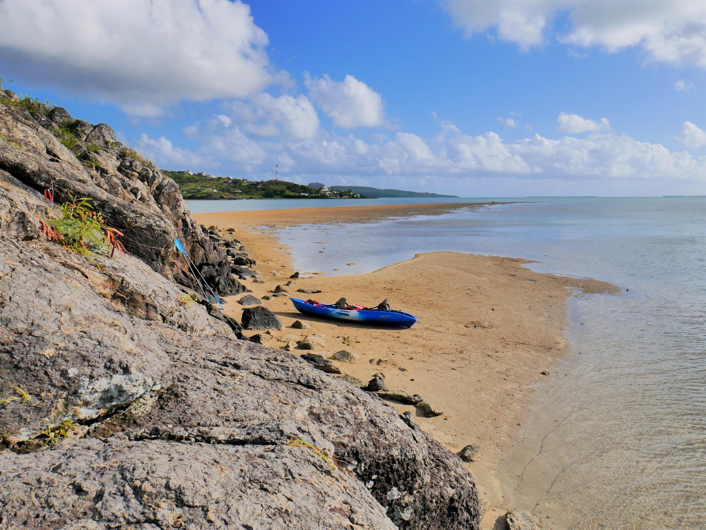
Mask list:
[[706,197],[188,201],[194,213],[415,202],[487,204],[276,235],[295,269],[329,275],[459,251],[618,285],[569,300],[570,352],[498,470],[506,500],[549,529],[706,529]]

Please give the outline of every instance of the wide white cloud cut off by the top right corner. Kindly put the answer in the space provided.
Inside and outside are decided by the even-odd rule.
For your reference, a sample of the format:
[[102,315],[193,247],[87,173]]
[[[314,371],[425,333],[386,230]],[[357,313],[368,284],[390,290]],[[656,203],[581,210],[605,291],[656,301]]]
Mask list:
[[[608,52],[638,46],[655,61],[706,67],[702,0],[446,0],[445,8],[467,37],[493,30],[525,50],[549,39]],[[573,26],[554,32],[562,13]]]

